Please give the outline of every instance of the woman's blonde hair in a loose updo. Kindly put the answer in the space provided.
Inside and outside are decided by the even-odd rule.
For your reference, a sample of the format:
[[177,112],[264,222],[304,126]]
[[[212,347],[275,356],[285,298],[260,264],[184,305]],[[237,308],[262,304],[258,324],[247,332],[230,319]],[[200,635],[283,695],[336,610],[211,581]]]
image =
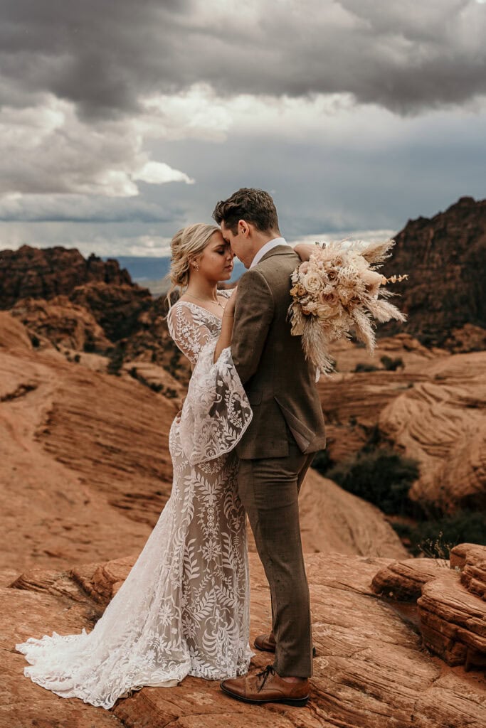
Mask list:
[[186,288],[189,284],[191,261],[203,252],[215,232],[219,232],[219,227],[216,225],[195,223],[194,225],[188,225],[182,228],[172,238],[171,269],[169,271],[171,288],[167,295],[169,306],[171,305],[171,293],[173,290],[178,287]]

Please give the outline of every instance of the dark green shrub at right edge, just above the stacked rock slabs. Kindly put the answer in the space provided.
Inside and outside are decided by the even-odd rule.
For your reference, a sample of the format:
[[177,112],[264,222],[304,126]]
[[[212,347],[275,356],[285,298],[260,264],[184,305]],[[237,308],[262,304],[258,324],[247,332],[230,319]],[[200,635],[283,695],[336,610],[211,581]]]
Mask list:
[[[486,546],[485,523],[484,511],[469,510],[444,515],[434,521],[423,521],[409,529],[410,550],[414,555],[449,558],[450,549],[460,543]],[[395,528],[394,523],[392,526]]]

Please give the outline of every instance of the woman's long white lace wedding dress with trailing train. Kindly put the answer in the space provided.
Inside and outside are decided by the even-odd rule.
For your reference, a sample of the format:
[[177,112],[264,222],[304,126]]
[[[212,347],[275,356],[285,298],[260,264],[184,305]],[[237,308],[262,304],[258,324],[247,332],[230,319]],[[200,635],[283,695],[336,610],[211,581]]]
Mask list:
[[246,520],[232,453],[251,408],[230,349],[213,364],[219,317],[179,301],[168,323],[195,365],[169,435],[171,497],[90,633],[53,633],[17,645],[34,682],[103,708],[132,690],[168,687],[187,675],[242,675],[252,654]]

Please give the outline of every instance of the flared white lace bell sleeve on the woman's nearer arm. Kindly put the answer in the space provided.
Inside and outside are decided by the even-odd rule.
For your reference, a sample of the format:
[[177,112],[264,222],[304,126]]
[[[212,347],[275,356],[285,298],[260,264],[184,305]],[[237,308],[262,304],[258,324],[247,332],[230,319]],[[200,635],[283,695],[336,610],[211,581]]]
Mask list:
[[253,413],[231,356],[223,349],[213,362],[218,333],[211,333],[188,306],[173,306],[169,331],[194,365],[181,411],[181,446],[192,465],[230,453],[239,443]]

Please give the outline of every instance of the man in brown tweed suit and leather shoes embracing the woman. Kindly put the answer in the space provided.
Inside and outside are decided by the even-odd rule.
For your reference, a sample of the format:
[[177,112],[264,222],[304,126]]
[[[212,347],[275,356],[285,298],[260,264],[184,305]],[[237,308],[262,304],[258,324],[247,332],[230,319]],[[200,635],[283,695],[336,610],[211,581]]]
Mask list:
[[299,529],[299,489],[324,448],[315,370],[291,336],[291,272],[300,259],[281,237],[270,194],[240,189],[213,218],[248,269],[235,305],[231,352],[253,411],[237,446],[238,489],[270,585],[273,630],[257,649],[275,652],[261,673],[224,680],[222,690],[249,703],[305,705],[312,675],[309,588]]

